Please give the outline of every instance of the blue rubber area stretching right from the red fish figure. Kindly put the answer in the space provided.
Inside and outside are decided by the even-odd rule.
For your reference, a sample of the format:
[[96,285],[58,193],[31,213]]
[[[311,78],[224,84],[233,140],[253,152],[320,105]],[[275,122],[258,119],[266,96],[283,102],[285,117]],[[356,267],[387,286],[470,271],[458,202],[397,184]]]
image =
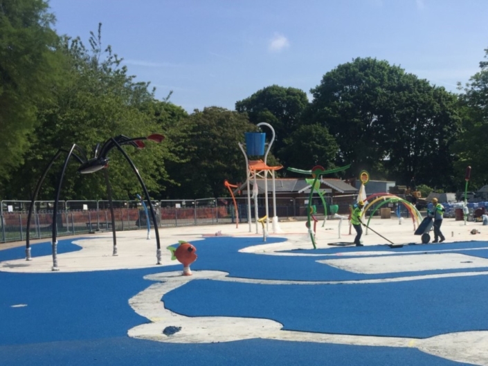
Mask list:
[[[276,243],[283,239],[268,238],[266,243]],[[472,242],[475,243],[475,242]],[[320,264],[316,261],[320,259],[339,259],[346,257],[347,253],[361,252],[368,253],[374,251],[386,251],[387,253],[426,253],[426,247],[429,246],[404,246],[403,248],[390,249],[388,246],[364,246],[358,248],[330,248],[330,249],[311,249],[299,250],[298,253],[311,254],[332,254],[343,253],[341,257],[283,257],[277,255],[256,255],[251,253],[237,253],[237,250],[246,248],[246,246],[262,244],[260,238],[231,238],[231,237],[209,237],[205,241],[196,241],[198,260],[192,264],[196,270],[217,270],[230,273],[232,277],[259,278],[262,280],[298,280],[298,281],[348,281],[348,280],[374,280],[391,277],[405,277],[419,275],[417,272],[399,272],[399,273],[378,273],[365,275],[362,273],[352,273],[343,271],[338,268]],[[471,242],[464,243],[464,247]],[[432,246],[432,250],[440,250],[453,244],[441,244]],[[463,244],[459,243],[459,246]],[[476,248],[482,246],[488,247],[486,242],[482,244],[476,242]],[[436,249],[434,249],[436,248]],[[329,251],[327,251],[329,250]],[[470,255],[470,252],[462,252],[464,255]],[[293,253],[293,252],[289,252]],[[460,252],[461,253],[461,252]],[[488,249],[486,254],[488,255]],[[374,255],[374,254],[372,254]],[[364,255],[361,255],[364,257]],[[449,269],[449,270],[431,270],[422,271],[423,275],[433,275],[442,273],[458,272],[477,272],[488,271],[488,267],[469,268],[469,269]]]

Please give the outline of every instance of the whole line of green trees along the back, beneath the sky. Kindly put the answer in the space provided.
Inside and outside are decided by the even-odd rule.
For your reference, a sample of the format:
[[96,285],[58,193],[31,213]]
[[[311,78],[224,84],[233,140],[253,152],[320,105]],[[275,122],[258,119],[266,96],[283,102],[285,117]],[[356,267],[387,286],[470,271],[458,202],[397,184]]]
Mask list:
[[[0,0],[0,195],[30,199],[37,179],[59,149],[93,147],[107,139],[163,134],[143,151],[126,146],[153,198],[227,194],[224,180],[246,179],[238,143],[269,123],[276,140],[269,165],[309,170],[352,164],[372,179],[437,190],[488,183],[481,147],[488,140],[488,61],[456,95],[386,60],[358,57],[325,74],[313,100],[293,87],[266,86],[235,103],[235,111],[206,107],[188,113],[170,95],[157,100],[149,82],[136,82],[122,59],[90,33],[57,35],[44,0]],[[488,57],[488,48],[485,50]],[[269,129],[262,129],[269,141]],[[120,152],[110,153],[115,199],[141,187]],[[39,199],[52,199],[62,166],[55,163]],[[106,199],[103,174],[76,174],[69,165],[62,199]]]

